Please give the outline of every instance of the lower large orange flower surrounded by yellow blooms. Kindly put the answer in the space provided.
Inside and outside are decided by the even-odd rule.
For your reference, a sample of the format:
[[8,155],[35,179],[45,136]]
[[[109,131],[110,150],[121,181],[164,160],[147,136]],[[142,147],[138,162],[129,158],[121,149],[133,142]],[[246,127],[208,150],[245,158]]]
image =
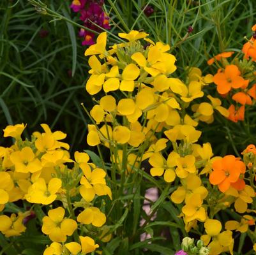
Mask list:
[[213,162],[213,172],[209,175],[209,181],[223,193],[227,191],[230,184],[239,180],[241,173],[245,173],[245,163],[233,155],[227,155]]

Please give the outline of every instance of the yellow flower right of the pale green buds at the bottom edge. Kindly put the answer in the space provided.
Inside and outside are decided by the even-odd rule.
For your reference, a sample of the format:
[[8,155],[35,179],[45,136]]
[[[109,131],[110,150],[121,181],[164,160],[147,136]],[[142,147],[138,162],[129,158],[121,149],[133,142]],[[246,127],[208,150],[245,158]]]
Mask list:
[[[223,231],[222,224],[216,219],[207,219],[204,222],[204,228],[206,229],[207,235],[202,235],[201,240],[204,245],[208,245],[210,249],[209,255],[218,255],[222,252],[229,250],[230,254],[233,254],[234,240],[232,238],[232,232],[230,230]],[[213,238],[212,242],[211,238]]]

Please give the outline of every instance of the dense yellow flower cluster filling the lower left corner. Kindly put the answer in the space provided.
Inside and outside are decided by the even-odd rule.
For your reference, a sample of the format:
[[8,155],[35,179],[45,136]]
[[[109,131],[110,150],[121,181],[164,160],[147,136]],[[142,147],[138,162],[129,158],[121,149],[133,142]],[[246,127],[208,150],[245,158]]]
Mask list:
[[[14,138],[15,143],[0,147],[0,231],[5,237],[19,236],[26,231],[27,221],[38,219],[33,205],[31,210],[20,209],[10,217],[4,213],[8,203],[27,201],[47,208],[41,231],[52,244],[44,255],[90,253],[99,247],[94,238],[104,242],[100,237],[106,217],[94,202],[107,199],[101,196],[112,197],[106,172],[89,163],[85,152],[75,152],[75,161],[71,159],[68,143],[62,142],[66,134],[52,132],[47,124],[41,127],[43,133],[34,132],[31,140],[21,138],[24,124],[4,129],[4,137]],[[47,205],[52,205],[50,210]],[[91,237],[83,235],[92,228]]]

